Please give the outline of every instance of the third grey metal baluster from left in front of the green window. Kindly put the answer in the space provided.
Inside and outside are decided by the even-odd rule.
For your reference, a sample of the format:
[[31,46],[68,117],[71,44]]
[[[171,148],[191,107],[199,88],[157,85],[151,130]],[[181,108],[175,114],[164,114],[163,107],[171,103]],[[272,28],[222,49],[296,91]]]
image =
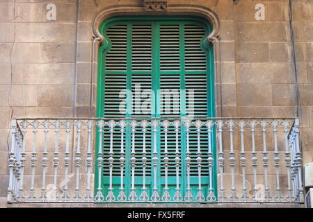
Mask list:
[[125,132],[126,122],[124,120],[120,121],[120,194],[118,194],[118,201],[126,201],[127,197],[125,195],[124,188],[124,167],[125,167],[125,151],[124,151],[124,132]]

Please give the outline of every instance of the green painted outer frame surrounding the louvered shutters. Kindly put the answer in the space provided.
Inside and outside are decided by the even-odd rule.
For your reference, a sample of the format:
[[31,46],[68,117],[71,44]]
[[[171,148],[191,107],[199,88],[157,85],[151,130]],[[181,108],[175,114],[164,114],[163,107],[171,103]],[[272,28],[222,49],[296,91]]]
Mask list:
[[[131,22],[129,22],[131,21]],[[106,19],[104,22],[99,27],[99,32],[104,36],[104,42],[102,43],[102,46],[99,47],[98,50],[98,66],[97,66],[97,117],[98,118],[103,118],[104,117],[104,73],[105,73],[105,56],[104,54],[109,51],[110,49],[110,41],[109,37],[105,35],[106,29],[109,28],[110,26],[114,26],[115,24],[133,24],[133,22],[140,22],[141,24],[145,23],[143,21],[149,21],[150,24],[151,22],[164,22],[164,23],[169,23],[172,24],[172,22],[191,22],[195,24],[201,24],[205,30],[206,33],[211,33],[212,31],[212,26],[207,22],[205,19],[202,19],[201,17],[194,17],[194,16],[155,16],[155,17],[147,17],[147,16],[121,16],[121,17],[111,17],[109,19]],[[163,23],[162,23],[163,24]],[[127,28],[127,33],[129,32],[129,28]],[[208,94],[208,107],[207,107],[207,112],[209,112],[208,117],[215,117],[215,101],[214,101],[214,52],[213,52],[213,46],[211,45],[210,42],[208,42],[207,36],[204,37],[202,40],[201,47],[207,54],[207,94]],[[131,47],[131,39],[127,39],[127,51],[129,51],[129,47]],[[152,47],[153,46],[152,42]],[[152,51],[156,51],[156,49],[152,49]],[[157,56],[156,56],[157,58]],[[156,72],[158,73],[155,67],[156,62],[152,62],[152,71],[150,72]],[[131,56],[127,56],[127,71],[131,71]],[[147,71],[141,71],[143,74]],[[186,72],[184,70],[184,72]],[[193,72],[193,71],[188,71],[188,72]],[[152,77],[152,81],[159,78],[160,71],[157,74],[158,76]],[[182,76],[181,76],[182,78]],[[184,79],[182,79],[184,81]],[[156,86],[157,84],[152,83],[152,85]],[[131,83],[127,83],[127,88],[131,88]],[[128,98],[129,100],[129,98]],[[129,102],[129,101],[128,101]],[[155,110],[154,107],[155,101],[152,99],[152,110]],[[128,107],[129,108],[129,107]],[[128,110],[126,117],[131,117],[130,116],[130,110]],[[160,117],[159,112],[154,117]],[[138,118],[140,119],[140,118]],[[96,129],[98,132],[98,128]],[[214,153],[214,157],[216,156],[216,137],[215,137],[215,130],[212,130],[212,151]],[[184,133],[184,132],[182,132]],[[125,137],[129,137],[130,135],[127,135],[125,133]],[[98,168],[97,168],[97,151],[99,148],[99,133],[96,133],[96,141],[95,141],[95,194],[97,192],[97,184],[98,184]],[[184,148],[184,146],[182,146]],[[130,156],[126,156],[126,158],[130,158]],[[186,172],[182,171],[183,174],[186,174]],[[186,175],[184,175],[186,176]],[[104,176],[102,176],[103,180]],[[126,183],[127,181],[125,181]],[[217,196],[217,170],[216,170],[216,158],[214,158],[214,167],[213,167],[213,187],[214,187],[214,192],[215,196]],[[106,193],[105,190],[106,187],[104,187],[104,182],[102,181],[102,192]],[[129,188],[125,186],[125,190]],[[160,188],[160,187],[159,187]],[[185,187],[181,187],[181,189],[184,189]]]

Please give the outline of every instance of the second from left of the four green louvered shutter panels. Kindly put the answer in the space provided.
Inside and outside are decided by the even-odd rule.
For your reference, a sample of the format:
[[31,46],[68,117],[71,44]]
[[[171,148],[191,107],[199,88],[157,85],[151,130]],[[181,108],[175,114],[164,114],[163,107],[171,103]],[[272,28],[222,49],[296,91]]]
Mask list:
[[[151,89],[152,76],[140,74],[138,71],[151,71],[152,69],[152,26],[136,24],[131,26],[131,117],[151,117]],[[138,118],[138,120],[141,120]],[[146,176],[151,176],[151,134],[147,128],[145,135],[145,150],[147,157]],[[141,158],[143,153],[143,128],[136,127],[136,176],[143,176]]]

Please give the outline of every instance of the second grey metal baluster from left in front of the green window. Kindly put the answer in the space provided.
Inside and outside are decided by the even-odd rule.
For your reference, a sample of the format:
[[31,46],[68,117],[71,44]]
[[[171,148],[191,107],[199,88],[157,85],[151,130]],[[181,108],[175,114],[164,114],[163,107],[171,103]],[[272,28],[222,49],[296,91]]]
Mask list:
[[115,196],[113,194],[113,187],[112,187],[112,173],[113,173],[113,133],[114,133],[114,126],[115,121],[110,120],[109,121],[109,127],[110,127],[110,151],[109,151],[109,188],[108,188],[108,195],[106,196],[106,201],[112,202],[115,200]]

